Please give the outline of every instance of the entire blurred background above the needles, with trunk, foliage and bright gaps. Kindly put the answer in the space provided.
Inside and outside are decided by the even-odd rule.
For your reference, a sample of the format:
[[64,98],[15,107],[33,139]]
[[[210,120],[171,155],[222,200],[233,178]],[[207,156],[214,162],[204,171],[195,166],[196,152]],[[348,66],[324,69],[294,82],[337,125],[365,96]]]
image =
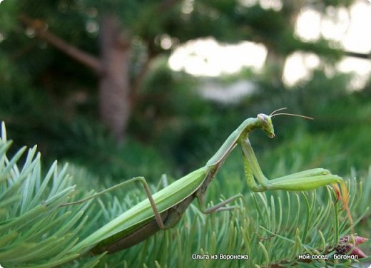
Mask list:
[[[268,177],[370,167],[366,0],[4,0],[0,120],[16,144],[121,181],[180,177],[245,119]],[[240,152],[226,172],[241,172]],[[241,173],[242,174],[242,173]]]

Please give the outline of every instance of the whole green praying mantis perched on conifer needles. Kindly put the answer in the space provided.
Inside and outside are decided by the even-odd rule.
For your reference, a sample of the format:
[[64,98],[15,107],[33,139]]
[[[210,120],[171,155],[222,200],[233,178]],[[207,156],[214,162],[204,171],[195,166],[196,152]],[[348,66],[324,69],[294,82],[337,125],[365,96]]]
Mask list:
[[[108,224],[96,230],[96,232],[93,232],[81,242],[78,242],[72,250],[100,254],[103,252],[113,253],[131,247],[147,239],[152,234],[155,234],[158,230],[166,230],[176,225],[176,223],[181,220],[183,212],[190,205],[190,202],[195,198],[198,200],[201,212],[205,214],[232,209],[233,206],[226,205],[243,197],[243,195],[234,195],[233,197],[223,200],[223,202],[219,202],[213,207],[207,207],[205,205],[205,192],[209,183],[223,165],[225,159],[228,158],[230,152],[237,145],[240,145],[240,148],[242,148],[243,168],[245,170],[246,182],[251,190],[255,192],[262,192],[265,190],[300,191],[312,190],[331,184],[335,190],[337,200],[342,200],[343,207],[347,211],[347,217],[352,226],[352,217],[350,216],[348,208],[349,198],[347,187],[342,177],[332,175],[328,170],[315,168],[268,180],[260,169],[254,150],[248,139],[250,131],[260,128],[269,138],[274,138],[275,133],[272,123],[272,118],[274,116],[294,115],[308,118],[303,115],[277,113],[279,110],[283,109],[285,108],[275,110],[273,113],[270,113],[270,115],[260,113],[256,118],[246,119],[232,134],[230,134],[205,166],[181,177],[181,179],[176,180],[171,183],[171,185],[164,187],[153,195],[144,177],[134,177],[131,180],[121,182],[107,190],[98,192],[91,197],[63,204],[76,205],[132,182],[141,182],[148,196],[148,198],[142,202],[139,202],[137,205],[111,220],[111,222],[108,222]],[[340,185],[341,192],[337,184]]]

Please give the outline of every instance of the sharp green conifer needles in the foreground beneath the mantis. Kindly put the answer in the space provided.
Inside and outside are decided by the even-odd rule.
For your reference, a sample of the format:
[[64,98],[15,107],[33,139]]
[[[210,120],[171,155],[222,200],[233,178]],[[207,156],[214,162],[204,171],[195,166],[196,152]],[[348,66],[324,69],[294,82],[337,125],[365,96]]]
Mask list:
[[[4,267],[61,264],[63,267],[97,264],[98,267],[250,267],[251,264],[306,267],[308,264],[300,262],[298,254],[307,253],[329,257],[326,261],[312,260],[312,267],[350,264],[350,261],[331,258],[339,237],[350,234],[350,227],[330,187],[302,193],[246,192],[241,188],[241,183],[245,184],[242,177],[228,172],[228,168],[211,183],[208,198],[216,201],[220,193],[228,197],[243,190],[245,197],[236,203],[238,208],[232,212],[202,215],[191,205],[177,227],[158,232],[146,242],[112,255],[78,258],[83,252],[72,251],[77,239],[88,236],[145,198],[143,192],[117,191],[99,200],[100,206],[86,202],[76,207],[59,207],[71,197],[79,199],[89,195],[88,190],[96,187],[97,178],[76,167],[59,171],[56,163],[46,175],[41,175],[36,148],[29,150],[22,161],[24,164],[19,166],[25,149],[13,158],[6,158],[10,143],[4,125],[0,142],[0,263]],[[74,176],[73,180],[67,171]],[[356,224],[362,219],[362,236],[365,236],[363,228],[370,227],[370,215],[365,207],[371,193],[370,176],[371,172],[368,179],[363,180],[363,187],[355,180],[347,182],[350,210]],[[76,194],[73,194],[72,181],[78,182]],[[154,187],[152,190],[156,191]],[[92,218],[87,220],[83,215]],[[192,254],[248,254],[249,259],[195,260]],[[75,261],[71,262],[72,259]]]

